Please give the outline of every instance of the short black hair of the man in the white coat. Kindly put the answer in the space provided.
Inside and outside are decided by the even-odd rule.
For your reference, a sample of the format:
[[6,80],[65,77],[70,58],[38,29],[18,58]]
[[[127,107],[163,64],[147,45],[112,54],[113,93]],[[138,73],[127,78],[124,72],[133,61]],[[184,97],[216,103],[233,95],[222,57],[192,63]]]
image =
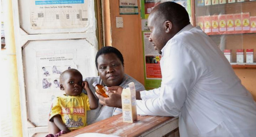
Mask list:
[[186,9],[175,2],[163,2],[157,5],[152,12],[157,15],[158,19],[163,21],[169,20],[180,27],[190,24]]

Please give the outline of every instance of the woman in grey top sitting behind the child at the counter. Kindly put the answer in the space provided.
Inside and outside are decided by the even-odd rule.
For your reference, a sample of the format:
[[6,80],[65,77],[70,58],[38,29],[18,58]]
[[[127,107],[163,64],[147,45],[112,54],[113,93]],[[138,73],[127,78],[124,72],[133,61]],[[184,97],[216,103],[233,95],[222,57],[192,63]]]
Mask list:
[[[123,55],[116,48],[106,46],[100,49],[95,57],[95,65],[99,76],[85,78],[94,94],[95,88],[92,83],[95,81],[104,86],[121,86],[123,88],[126,87],[126,84],[134,82],[136,91],[145,90],[141,83],[124,73]],[[90,125],[120,113],[122,113],[122,109],[99,104],[97,109],[87,111],[87,124]],[[58,133],[59,131],[55,127],[53,122],[48,122],[49,133]]]

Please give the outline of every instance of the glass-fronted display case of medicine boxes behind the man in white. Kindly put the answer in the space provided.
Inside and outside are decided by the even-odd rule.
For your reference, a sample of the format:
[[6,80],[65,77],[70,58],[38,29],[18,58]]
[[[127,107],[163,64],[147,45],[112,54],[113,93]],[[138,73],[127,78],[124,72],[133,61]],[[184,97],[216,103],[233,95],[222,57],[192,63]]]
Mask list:
[[256,68],[256,0],[192,0],[200,26],[233,68]]

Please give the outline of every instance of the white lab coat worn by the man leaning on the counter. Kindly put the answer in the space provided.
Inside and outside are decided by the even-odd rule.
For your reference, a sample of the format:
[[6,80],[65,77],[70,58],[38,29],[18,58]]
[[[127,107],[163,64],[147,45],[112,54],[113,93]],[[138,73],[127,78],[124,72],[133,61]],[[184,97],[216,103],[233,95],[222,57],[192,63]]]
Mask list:
[[256,104],[207,34],[190,24],[161,51],[161,87],[140,92],[138,114],[179,116],[181,137],[256,136]]

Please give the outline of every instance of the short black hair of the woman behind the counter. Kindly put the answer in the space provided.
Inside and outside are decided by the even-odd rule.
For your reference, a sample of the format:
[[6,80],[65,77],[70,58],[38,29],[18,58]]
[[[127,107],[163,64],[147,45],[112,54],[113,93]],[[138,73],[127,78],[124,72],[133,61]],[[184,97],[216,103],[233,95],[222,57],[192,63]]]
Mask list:
[[97,54],[96,54],[96,57],[95,57],[95,65],[96,65],[96,68],[97,68],[97,69],[98,69],[98,62],[97,62],[98,57],[99,57],[100,55],[102,55],[102,54],[109,54],[109,53],[114,53],[114,54],[116,54],[116,56],[118,57],[118,59],[122,62],[122,65],[124,65],[124,60],[123,60],[123,55],[122,55],[122,53],[121,53],[118,49],[116,49],[116,48],[114,48],[114,47],[112,47],[112,46],[105,46],[105,47],[101,48],[101,49],[97,52]]

